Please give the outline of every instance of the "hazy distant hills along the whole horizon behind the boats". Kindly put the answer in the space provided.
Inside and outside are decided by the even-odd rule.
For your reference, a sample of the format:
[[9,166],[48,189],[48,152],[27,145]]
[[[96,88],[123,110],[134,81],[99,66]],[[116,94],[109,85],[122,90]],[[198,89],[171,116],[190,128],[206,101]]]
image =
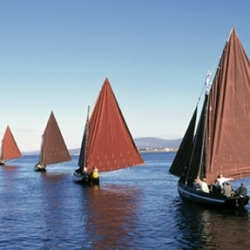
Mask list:
[[[178,148],[180,146],[182,138],[180,139],[161,139],[157,137],[140,137],[134,138],[135,144],[138,149],[145,149],[145,148]],[[80,148],[69,149],[71,155],[77,155],[80,153]],[[23,152],[23,155],[39,155],[40,151],[30,151],[30,152]]]

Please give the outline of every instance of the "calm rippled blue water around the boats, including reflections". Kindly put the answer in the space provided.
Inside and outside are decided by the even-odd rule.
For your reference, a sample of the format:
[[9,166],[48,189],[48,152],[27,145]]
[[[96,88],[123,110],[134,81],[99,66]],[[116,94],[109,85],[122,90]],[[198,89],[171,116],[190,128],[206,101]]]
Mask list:
[[250,205],[183,204],[168,174],[174,153],[142,156],[144,166],[101,173],[88,188],[72,182],[75,156],[46,173],[33,171],[38,156],[0,167],[0,248],[250,249]]

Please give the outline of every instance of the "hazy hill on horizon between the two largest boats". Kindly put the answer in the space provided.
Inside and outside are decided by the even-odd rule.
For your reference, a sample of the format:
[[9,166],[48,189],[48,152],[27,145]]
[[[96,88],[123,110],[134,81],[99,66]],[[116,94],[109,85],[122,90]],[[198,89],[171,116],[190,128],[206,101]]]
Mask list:
[[162,147],[178,148],[180,146],[182,138],[169,140],[157,137],[141,137],[141,138],[135,138],[134,141],[137,148],[139,149],[162,148]]

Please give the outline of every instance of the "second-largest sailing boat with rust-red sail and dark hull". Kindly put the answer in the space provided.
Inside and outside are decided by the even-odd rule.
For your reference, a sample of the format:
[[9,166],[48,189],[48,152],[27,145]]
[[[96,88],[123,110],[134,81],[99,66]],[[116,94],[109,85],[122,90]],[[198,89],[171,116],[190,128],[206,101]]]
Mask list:
[[104,172],[143,163],[109,80],[105,78],[90,117],[88,110],[78,161],[79,169],[74,172],[73,180],[95,185],[99,184],[99,177],[92,177],[94,167],[99,172]]

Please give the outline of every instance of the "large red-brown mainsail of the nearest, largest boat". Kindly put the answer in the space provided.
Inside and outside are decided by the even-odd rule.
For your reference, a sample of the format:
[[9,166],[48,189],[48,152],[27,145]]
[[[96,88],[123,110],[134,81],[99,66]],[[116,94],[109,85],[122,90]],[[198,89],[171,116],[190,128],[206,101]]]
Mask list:
[[206,177],[250,175],[250,63],[232,29],[209,95]]

